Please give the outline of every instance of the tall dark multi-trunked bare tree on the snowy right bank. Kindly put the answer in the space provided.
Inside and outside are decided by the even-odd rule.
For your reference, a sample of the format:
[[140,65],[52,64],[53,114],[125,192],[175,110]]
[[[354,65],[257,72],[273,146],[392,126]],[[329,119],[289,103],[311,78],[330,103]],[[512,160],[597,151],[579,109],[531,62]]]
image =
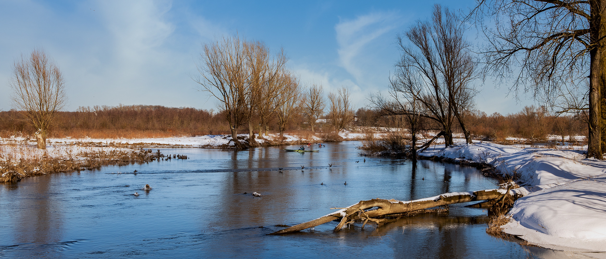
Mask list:
[[[447,146],[453,145],[452,123],[456,119],[467,143],[471,143],[463,116],[473,108],[476,90],[471,82],[477,77],[477,66],[459,19],[448,9],[442,13],[442,7],[435,5],[431,22],[418,22],[399,35],[397,43],[402,56],[391,89],[399,94],[392,96],[404,97],[408,104],[402,103],[399,110],[392,111],[433,120]],[[405,107],[419,110],[402,110]]]

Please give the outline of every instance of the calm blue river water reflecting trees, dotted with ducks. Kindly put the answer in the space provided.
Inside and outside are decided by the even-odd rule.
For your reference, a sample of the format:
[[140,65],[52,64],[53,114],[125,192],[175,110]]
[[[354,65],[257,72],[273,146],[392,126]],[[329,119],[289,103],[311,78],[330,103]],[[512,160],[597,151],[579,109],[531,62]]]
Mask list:
[[[281,149],[298,146],[165,148],[163,154],[188,159],[1,184],[0,257],[567,257],[491,237],[487,212],[462,205],[451,206],[448,215],[420,214],[379,228],[355,224],[333,233],[333,221],[266,235],[282,229],[275,225],[313,220],[360,200],[413,200],[496,186],[468,166],[422,160],[413,171],[408,160],[362,157],[360,144],[325,143],[312,147],[319,152],[302,154]],[[143,191],[145,184],[153,189]]]

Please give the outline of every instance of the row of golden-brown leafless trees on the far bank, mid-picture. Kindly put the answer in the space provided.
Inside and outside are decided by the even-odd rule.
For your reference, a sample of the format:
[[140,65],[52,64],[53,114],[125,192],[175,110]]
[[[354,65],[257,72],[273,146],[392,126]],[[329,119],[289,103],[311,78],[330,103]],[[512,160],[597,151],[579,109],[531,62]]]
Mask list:
[[[324,113],[325,100],[320,85],[303,90],[299,77],[286,66],[284,50],[271,53],[263,42],[241,40],[238,34],[222,36],[204,44],[195,79],[221,103],[231,136],[248,125],[248,145],[256,146],[254,131],[259,138],[267,134],[268,120],[276,118],[282,138],[288,123],[296,114],[303,113],[312,129],[316,119]],[[345,89],[329,95],[330,114],[336,130],[353,120],[353,111]],[[335,117],[336,116],[336,117]],[[244,147],[236,142],[238,147]]]

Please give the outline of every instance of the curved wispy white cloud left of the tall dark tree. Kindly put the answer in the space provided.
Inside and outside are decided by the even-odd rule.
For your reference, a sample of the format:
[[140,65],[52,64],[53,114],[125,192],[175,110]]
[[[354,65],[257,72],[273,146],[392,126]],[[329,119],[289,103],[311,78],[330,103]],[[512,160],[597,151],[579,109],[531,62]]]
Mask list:
[[364,74],[360,66],[363,61],[356,60],[356,57],[365,51],[371,41],[397,28],[401,24],[398,18],[393,12],[373,12],[353,20],[342,20],[335,25],[339,64],[356,81],[361,81]]

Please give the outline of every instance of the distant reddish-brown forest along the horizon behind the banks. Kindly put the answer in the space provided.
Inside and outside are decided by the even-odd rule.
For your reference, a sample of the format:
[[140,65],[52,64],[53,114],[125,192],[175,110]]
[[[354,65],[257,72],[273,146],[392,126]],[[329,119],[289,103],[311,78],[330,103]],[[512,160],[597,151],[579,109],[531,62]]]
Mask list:
[[[381,116],[377,110],[360,108],[356,120],[348,125],[350,131],[385,130],[406,128],[405,120],[398,116]],[[274,119],[275,120],[275,119]],[[524,137],[542,141],[547,134],[586,136],[587,122],[584,116],[551,116],[542,108],[525,107],[515,114],[486,114],[481,111],[465,115],[466,124],[474,139],[502,142],[506,137]],[[310,134],[304,114],[297,114],[287,126],[291,134]],[[319,125],[319,132],[330,133],[333,127]],[[431,128],[431,125],[426,125]],[[276,121],[268,123],[270,133],[277,133]],[[316,130],[316,131],[318,131]],[[32,136],[34,129],[21,120],[18,111],[0,111],[0,136],[15,133]],[[242,126],[238,133],[247,133]],[[454,133],[461,133],[454,128]],[[50,130],[50,137],[136,138],[202,136],[230,134],[224,113],[196,108],[168,108],[159,105],[119,105],[117,107],[80,107],[76,111],[58,114]]]

